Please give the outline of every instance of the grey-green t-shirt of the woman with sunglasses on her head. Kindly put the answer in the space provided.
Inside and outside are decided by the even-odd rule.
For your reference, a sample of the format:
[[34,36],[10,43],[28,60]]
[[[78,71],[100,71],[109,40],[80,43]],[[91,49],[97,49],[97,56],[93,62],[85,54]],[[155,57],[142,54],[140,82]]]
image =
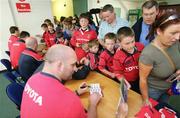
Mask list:
[[[165,51],[173,60],[176,70],[180,69],[180,42],[177,41]],[[171,83],[166,82],[165,80],[173,74],[175,70],[167,57],[158,48],[154,47],[152,44],[146,46],[141,53],[139,61],[143,64],[153,66],[153,69],[148,76],[149,87],[160,90],[170,88]]]

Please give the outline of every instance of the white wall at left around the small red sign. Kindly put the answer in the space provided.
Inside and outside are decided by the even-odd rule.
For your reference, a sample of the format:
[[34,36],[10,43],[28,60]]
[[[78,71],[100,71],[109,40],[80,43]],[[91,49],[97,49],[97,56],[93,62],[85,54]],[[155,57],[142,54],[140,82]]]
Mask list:
[[[41,24],[44,19],[52,19],[51,0],[26,0],[31,5],[31,12],[19,13],[16,9],[19,0],[1,0],[0,3],[0,59],[8,58],[4,51],[8,50],[10,36],[9,27],[16,25],[28,31],[32,36],[42,33]],[[0,70],[3,70],[0,63]]]

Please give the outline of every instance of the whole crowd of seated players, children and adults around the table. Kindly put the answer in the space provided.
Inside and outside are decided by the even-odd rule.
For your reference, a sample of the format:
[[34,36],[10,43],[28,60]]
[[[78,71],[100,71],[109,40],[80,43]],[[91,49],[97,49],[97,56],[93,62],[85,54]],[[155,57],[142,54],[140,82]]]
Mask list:
[[[86,113],[78,96],[62,84],[73,75],[84,79],[89,71],[119,83],[125,80],[128,87],[142,95],[144,105],[151,106],[149,98],[167,103],[172,82],[166,79],[180,73],[180,15],[174,10],[159,11],[155,0],[142,5],[142,18],[132,28],[116,16],[110,4],[102,8],[101,15],[99,28],[89,13],[79,18],[61,17],[57,27],[44,20],[44,33],[37,36],[47,46],[45,56],[37,53],[36,38],[16,26],[10,27],[11,63],[26,82],[22,118],[95,118],[100,95],[90,95]],[[41,71],[33,74],[42,62]],[[80,87],[76,93],[81,95],[87,89]],[[30,91],[35,97],[29,97]]]

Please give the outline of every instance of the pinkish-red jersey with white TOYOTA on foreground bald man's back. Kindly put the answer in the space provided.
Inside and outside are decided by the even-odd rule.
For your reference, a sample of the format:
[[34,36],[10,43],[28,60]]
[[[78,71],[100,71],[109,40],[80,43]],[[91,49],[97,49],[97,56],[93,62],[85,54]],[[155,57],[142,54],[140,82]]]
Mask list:
[[55,76],[40,72],[26,83],[21,118],[86,118],[80,98]]

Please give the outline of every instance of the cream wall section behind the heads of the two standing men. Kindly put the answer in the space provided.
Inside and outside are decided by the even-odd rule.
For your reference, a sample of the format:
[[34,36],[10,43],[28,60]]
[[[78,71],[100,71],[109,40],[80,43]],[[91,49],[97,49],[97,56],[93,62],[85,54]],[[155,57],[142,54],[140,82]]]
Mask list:
[[113,5],[114,8],[121,8],[121,17],[127,19],[127,14],[129,9],[136,9],[138,7],[138,2],[122,1],[122,0],[88,0],[88,10],[92,8],[102,8],[106,4]]

